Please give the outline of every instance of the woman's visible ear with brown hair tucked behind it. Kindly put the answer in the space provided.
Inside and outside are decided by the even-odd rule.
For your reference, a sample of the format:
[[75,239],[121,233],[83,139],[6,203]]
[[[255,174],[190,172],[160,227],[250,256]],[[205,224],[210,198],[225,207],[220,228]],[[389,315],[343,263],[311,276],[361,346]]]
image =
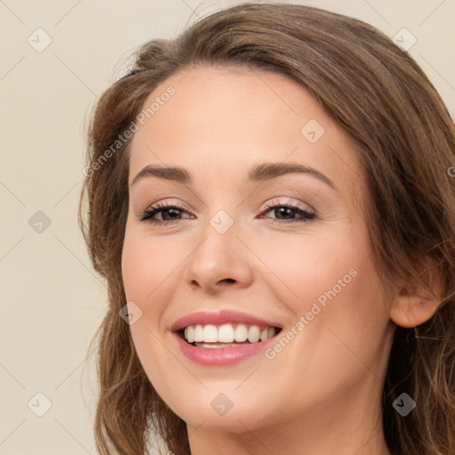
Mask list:
[[401,327],[417,327],[427,322],[441,303],[443,283],[438,267],[403,283],[390,309],[390,319]]

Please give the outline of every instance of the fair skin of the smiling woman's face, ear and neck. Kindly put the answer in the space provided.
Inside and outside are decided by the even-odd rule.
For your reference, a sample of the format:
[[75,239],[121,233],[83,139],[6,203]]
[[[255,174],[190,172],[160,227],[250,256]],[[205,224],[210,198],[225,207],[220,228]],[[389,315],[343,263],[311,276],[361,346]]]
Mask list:
[[[131,325],[140,361],[187,422],[192,454],[389,455],[380,401],[394,322],[423,322],[435,305],[404,292],[385,297],[353,140],[283,76],[197,67],[160,84],[144,107],[170,85],[175,95],[132,139],[122,268],[127,300],[142,311]],[[314,143],[300,132],[311,119],[324,129]],[[334,188],[310,173],[249,181],[251,167],[265,162],[307,166]],[[148,175],[132,184],[150,164],[184,168],[193,183]],[[138,220],[157,203],[181,209],[156,213],[162,224]],[[286,203],[315,218],[267,208]],[[223,234],[210,223],[220,210],[234,221]],[[355,277],[338,291],[350,270]],[[276,322],[284,334],[333,289],[274,358],[201,365],[182,355],[171,331],[183,315],[230,309]],[[221,393],[232,403],[223,415],[211,405]]]

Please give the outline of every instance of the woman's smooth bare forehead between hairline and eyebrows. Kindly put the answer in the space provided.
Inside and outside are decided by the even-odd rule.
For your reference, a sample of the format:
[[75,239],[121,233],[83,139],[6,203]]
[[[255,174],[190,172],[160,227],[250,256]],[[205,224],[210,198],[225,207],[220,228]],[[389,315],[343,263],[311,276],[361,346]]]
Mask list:
[[253,164],[291,161],[351,186],[359,180],[355,141],[304,87],[274,72],[187,68],[159,84],[142,112],[131,175],[157,164],[238,176]]

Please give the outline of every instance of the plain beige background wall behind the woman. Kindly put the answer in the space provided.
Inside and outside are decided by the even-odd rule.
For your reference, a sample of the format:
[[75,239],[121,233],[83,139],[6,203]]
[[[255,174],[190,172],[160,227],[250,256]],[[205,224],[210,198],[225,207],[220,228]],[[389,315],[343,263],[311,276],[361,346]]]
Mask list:
[[[237,3],[0,0],[0,453],[96,453],[87,354],[107,300],[76,223],[84,119],[134,46],[175,36],[196,8],[204,16]],[[455,117],[455,0],[293,3],[355,16],[388,36],[407,28],[417,38],[409,52]],[[52,38],[43,52],[36,28]]]

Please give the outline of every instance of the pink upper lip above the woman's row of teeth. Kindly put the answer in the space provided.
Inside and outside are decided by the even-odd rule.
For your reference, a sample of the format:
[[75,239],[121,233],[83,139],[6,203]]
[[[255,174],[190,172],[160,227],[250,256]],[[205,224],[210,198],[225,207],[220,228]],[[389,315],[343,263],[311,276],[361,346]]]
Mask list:
[[181,329],[188,327],[188,325],[195,325],[200,323],[220,325],[223,323],[247,323],[251,325],[268,326],[282,328],[278,323],[272,323],[265,321],[255,315],[248,315],[239,311],[223,309],[217,312],[198,311],[180,317],[175,323],[172,324],[171,331],[180,331]]

